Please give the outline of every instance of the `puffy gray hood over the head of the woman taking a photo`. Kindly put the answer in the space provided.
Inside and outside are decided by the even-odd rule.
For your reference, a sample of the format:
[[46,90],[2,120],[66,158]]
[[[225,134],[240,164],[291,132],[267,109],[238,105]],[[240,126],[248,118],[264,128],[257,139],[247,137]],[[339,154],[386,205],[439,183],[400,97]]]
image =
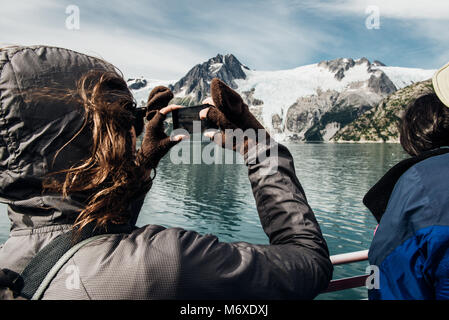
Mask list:
[[115,71],[100,59],[62,48],[0,49],[0,202],[8,204],[12,231],[71,224],[83,208],[87,196],[43,194],[42,181],[88,156],[90,132],[83,130],[55,158],[81,128],[84,111],[66,102],[28,102],[25,94],[43,87],[75,89],[92,69]]

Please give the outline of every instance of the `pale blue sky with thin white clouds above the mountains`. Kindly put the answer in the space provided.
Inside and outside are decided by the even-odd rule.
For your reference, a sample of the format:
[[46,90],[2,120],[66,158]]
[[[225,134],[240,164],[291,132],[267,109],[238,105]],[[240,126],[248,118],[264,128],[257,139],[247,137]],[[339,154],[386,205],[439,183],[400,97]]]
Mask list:
[[447,1],[0,0],[0,47],[66,47],[161,80],[218,53],[253,70],[339,57],[436,69],[449,62]]

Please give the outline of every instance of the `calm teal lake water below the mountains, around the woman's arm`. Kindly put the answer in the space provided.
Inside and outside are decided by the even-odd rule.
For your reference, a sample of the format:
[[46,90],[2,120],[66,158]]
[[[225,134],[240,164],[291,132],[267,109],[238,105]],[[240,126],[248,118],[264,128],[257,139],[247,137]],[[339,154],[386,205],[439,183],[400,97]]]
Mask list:
[[[204,146],[204,144],[203,144]],[[369,188],[406,157],[396,144],[287,144],[296,174],[321,225],[331,254],[369,248],[376,221],[362,204]],[[0,207],[2,212],[6,209]],[[174,165],[159,167],[138,225],[160,224],[211,233],[221,241],[268,244],[258,219],[244,165]],[[0,242],[8,235],[0,215]],[[334,279],[365,273],[367,262],[337,266]],[[318,299],[362,299],[357,288]]]

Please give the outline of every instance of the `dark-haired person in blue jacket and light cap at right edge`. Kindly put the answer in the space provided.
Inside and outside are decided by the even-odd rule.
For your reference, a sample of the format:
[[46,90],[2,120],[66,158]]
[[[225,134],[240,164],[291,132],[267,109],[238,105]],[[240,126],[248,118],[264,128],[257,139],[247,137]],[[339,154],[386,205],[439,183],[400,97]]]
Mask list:
[[[434,77],[434,88],[436,84]],[[370,300],[449,298],[445,97],[429,93],[407,107],[399,125],[400,142],[412,158],[394,166],[364,198],[379,222],[368,255],[379,277],[368,291]]]

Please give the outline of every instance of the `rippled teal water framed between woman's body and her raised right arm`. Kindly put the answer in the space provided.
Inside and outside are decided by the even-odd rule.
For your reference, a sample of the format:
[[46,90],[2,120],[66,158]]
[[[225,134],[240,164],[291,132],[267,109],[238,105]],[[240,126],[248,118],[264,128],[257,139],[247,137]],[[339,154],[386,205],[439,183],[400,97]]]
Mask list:
[[242,164],[174,165],[165,157],[138,220],[147,223],[212,233],[222,241],[268,243]]

